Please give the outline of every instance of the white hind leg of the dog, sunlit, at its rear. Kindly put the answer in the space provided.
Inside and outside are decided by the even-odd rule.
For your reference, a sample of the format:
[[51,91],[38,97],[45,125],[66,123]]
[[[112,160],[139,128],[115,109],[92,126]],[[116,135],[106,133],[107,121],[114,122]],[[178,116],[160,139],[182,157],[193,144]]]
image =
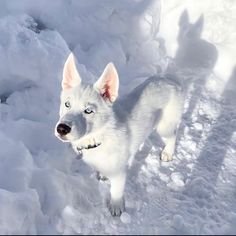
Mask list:
[[173,96],[166,107],[163,109],[156,131],[162,137],[165,147],[161,152],[162,161],[171,161],[175,151],[177,128],[181,119],[182,104],[181,100]]

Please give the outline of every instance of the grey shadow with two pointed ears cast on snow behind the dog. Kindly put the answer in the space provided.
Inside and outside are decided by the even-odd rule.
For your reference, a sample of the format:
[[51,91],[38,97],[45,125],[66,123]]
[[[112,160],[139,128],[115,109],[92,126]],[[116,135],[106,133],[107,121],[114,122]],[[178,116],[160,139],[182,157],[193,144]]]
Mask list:
[[[180,74],[186,76],[184,89],[191,89],[191,98],[184,117],[192,116],[203,92],[208,76],[218,59],[218,51],[212,43],[202,39],[204,17],[201,15],[194,23],[190,23],[187,10],[179,19],[178,49],[174,64]],[[195,73],[195,74],[193,74]]]

